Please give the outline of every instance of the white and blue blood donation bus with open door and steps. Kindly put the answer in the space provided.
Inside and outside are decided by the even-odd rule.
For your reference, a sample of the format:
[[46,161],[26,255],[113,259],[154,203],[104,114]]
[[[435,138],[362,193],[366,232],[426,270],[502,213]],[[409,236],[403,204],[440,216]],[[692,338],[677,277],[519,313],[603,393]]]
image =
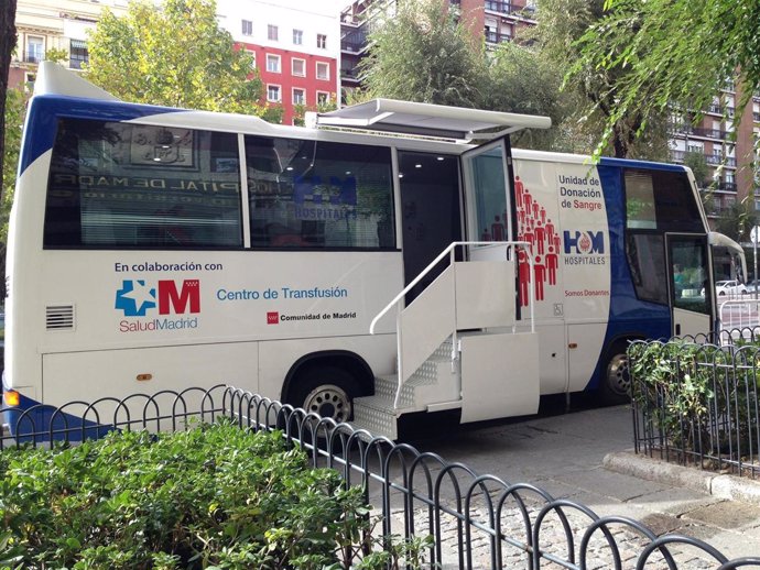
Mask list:
[[628,341],[714,327],[710,243],[743,264],[683,166],[512,151],[545,118],[378,100],[313,119],[133,105],[41,66],[11,427],[36,403],[219,383],[390,437],[410,413],[619,401]]

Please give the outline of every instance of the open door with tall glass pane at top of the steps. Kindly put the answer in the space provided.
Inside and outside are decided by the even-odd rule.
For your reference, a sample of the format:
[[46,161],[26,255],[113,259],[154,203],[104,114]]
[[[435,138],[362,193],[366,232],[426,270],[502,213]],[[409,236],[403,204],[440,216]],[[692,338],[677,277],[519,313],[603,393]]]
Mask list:
[[[511,164],[508,139],[484,144],[463,154],[468,241],[501,242],[513,239]],[[503,260],[504,248],[473,246],[469,259]]]

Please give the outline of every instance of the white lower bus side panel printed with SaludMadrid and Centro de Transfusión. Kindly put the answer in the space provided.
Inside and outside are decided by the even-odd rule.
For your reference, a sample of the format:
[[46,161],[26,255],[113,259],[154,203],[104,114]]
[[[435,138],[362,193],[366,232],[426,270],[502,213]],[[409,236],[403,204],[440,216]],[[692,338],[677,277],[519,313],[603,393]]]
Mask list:
[[[44,251],[35,265],[56,286],[17,293],[36,307],[29,326],[36,361],[45,355],[46,404],[89,398],[89,386],[122,394],[137,374],[166,379],[156,390],[229,383],[279,397],[295,360],[279,355],[259,386],[254,341],[292,339],[294,359],[313,347],[350,350],[347,337],[371,344],[371,319],[402,287],[399,252]],[[392,332],[393,318],[378,329]]]

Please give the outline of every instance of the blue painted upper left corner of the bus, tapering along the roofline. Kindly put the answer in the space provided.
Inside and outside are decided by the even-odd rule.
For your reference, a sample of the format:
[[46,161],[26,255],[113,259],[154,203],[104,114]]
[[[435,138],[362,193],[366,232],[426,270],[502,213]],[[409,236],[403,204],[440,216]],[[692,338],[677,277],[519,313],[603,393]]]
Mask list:
[[[131,121],[141,117],[182,111],[185,111],[185,109],[124,103],[123,101],[83,99],[61,95],[33,97],[26,112],[24,145],[21,149],[21,156],[19,158],[19,176],[42,154],[53,147],[58,117],[100,119],[113,122]],[[30,129],[29,125],[34,127]]]

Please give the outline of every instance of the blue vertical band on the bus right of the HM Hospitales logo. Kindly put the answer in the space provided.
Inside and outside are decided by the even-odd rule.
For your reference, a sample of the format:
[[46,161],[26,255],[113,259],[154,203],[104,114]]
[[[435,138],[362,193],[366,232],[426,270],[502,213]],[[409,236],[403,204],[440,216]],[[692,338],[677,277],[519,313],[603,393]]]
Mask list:
[[[623,167],[647,167],[653,169],[675,169],[683,172],[682,166],[655,165],[640,161],[605,160],[597,167],[601,182],[607,226],[609,228],[610,259],[610,306],[607,319],[607,331],[602,347],[629,337],[631,333],[644,338],[670,338],[671,311],[666,305],[640,300],[633,288],[633,278],[626,259],[626,195],[622,183]],[[607,354],[599,354],[596,369],[586,390],[594,390],[602,381],[607,368]]]

